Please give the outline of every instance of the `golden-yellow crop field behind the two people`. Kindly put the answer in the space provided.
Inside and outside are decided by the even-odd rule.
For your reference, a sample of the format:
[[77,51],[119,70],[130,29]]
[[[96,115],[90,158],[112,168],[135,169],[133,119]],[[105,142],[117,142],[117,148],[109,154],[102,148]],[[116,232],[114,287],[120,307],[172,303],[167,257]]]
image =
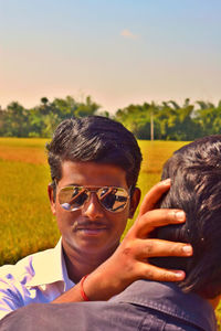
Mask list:
[[[59,239],[46,193],[50,171],[45,143],[45,139],[0,138],[0,265],[52,247]],[[139,141],[144,161],[138,186],[143,197],[160,180],[164,162],[185,143]],[[126,231],[133,222],[128,221]]]

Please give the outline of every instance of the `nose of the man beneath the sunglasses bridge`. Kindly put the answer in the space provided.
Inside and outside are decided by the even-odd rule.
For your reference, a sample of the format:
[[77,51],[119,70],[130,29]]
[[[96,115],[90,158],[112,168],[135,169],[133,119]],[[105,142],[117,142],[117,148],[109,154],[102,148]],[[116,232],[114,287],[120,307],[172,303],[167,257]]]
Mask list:
[[104,210],[101,203],[98,202],[95,192],[91,192],[88,201],[85,202],[82,209],[82,213],[91,221],[95,221],[104,216]]

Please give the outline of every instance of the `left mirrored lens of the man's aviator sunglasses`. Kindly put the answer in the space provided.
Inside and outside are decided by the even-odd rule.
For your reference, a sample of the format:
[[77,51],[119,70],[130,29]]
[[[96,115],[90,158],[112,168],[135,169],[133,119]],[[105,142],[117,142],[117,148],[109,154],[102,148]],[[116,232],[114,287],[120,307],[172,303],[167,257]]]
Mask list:
[[63,188],[59,193],[59,202],[66,211],[78,210],[87,200],[88,194],[84,188],[67,186]]

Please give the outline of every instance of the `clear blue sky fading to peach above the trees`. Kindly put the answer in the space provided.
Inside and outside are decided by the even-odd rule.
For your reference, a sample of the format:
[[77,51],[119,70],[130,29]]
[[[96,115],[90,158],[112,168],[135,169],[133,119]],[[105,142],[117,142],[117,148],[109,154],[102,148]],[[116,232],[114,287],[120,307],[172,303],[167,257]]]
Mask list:
[[221,99],[220,0],[0,0],[0,105]]

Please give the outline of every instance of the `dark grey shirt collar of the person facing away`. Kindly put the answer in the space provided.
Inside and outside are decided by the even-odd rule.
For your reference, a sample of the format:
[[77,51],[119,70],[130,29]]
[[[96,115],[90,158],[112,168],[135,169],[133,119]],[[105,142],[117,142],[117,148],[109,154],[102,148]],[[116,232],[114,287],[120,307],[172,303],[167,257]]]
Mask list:
[[172,282],[138,280],[110,301],[140,305],[190,322],[202,330],[217,330],[212,306],[198,295],[183,293]]

